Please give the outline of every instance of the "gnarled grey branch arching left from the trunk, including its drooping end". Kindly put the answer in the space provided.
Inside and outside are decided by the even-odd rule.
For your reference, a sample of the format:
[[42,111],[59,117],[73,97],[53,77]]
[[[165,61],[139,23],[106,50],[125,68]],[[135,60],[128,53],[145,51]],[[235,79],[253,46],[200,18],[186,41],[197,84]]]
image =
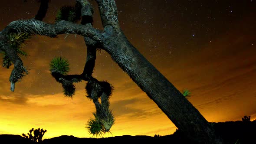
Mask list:
[[28,33],[30,35],[39,34],[49,37],[56,37],[63,33],[74,33],[89,37],[94,41],[102,41],[102,32],[100,30],[94,29],[92,26],[71,23],[64,20],[56,24],[44,23],[35,19],[11,22],[0,33],[0,51],[5,52],[14,64],[13,72],[10,75],[11,91],[14,91],[15,82],[22,79],[24,74],[27,74],[27,71],[16,51],[10,46],[10,41],[7,39],[7,36],[10,33]]

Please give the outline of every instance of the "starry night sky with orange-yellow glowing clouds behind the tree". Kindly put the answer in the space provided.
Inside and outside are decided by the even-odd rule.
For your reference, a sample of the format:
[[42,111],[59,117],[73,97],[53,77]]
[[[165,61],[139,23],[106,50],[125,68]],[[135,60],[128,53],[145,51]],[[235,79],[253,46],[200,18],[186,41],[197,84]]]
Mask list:
[[[51,0],[43,20],[54,23],[57,10],[75,0]],[[94,27],[102,29],[98,7]],[[118,20],[128,40],[180,91],[209,122],[256,119],[256,1],[255,0],[116,0]],[[35,0],[1,1],[0,29],[10,22],[33,18]],[[54,56],[69,60],[69,74],[80,74],[86,59],[81,36],[33,36],[22,58],[29,70],[10,91],[13,69],[0,68],[0,134],[22,134],[43,128],[43,138],[60,135],[92,137],[85,128],[95,107],[85,97],[85,84],[76,84],[72,99],[49,72]],[[97,53],[93,76],[114,86],[110,108],[115,116],[112,134],[167,135],[175,125],[160,108],[112,61]]]

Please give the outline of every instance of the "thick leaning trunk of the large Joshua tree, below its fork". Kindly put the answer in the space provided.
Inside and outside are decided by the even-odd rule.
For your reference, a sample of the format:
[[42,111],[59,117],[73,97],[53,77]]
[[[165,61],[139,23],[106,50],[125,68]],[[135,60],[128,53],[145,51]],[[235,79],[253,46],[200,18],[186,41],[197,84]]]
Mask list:
[[104,36],[103,49],[180,131],[197,144],[222,144],[208,121],[129,43],[121,29],[105,26]]

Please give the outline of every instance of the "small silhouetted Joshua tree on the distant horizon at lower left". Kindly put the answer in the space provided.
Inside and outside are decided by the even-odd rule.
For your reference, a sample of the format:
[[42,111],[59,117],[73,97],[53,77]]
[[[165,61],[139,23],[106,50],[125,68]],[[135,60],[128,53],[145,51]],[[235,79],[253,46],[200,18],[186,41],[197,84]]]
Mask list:
[[[32,135],[32,132],[33,132],[34,136]],[[42,129],[38,128],[35,130],[34,130],[34,128],[32,128],[29,131],[28,135],[22,134],[22,136],[30,139],[30,141],[33,141],[33,142],[42,142],[42,138],[43,138],[43,135],[45,132],[46,132],[46,130],[43,130],[43,128]]]

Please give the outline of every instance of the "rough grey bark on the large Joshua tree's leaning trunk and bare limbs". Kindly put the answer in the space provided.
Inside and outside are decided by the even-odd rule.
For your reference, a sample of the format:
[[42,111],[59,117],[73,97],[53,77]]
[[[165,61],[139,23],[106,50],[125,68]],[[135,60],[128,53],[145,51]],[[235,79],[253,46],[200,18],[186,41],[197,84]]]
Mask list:
[[[191,143],[223,144],[221,137],[215,134],[213,128],[200,112],[128,41],[118,25],[115,0],[96,0],[104,30],[97,30],[92,27],[93,10],[89,1],[77,0],[77,2],[84,5],[81,8],[81,13],[82,17],[87,20],[82,20],[82,24],[64,20],[55,24],[48,24],[35,19],[18,20],[10,23],[0,32],[0,37],[3,37],[0,39],[0,50],[7,52],[10,56],[15,65],[14,69],[21,69],[23,63],[13,50],[9,50],[8,41],[5,39],[8,33],[23,32],[50,37],[56,37],[63,33],[79,34],[85,37],[87,46],[85,69],[81,75],[66,76],[66,79],[77,79],[77,82],[81,79],[88,81],[88,83],[98,82],[92,78],[96,59],[95,49],[103,49],[158,105],[179,131],[191,140]],[[24,71],[22,72],[24,73]],[[59,76],[65,79],[65,76]]]

